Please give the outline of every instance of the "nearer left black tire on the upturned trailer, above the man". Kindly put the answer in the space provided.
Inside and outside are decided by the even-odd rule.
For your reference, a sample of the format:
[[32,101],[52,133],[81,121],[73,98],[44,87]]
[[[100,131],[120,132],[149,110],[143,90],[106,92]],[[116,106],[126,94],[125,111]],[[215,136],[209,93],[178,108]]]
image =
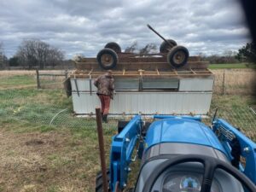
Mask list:
[[97,62],[103,69],[112,69],[119,61],[119,57],[113,49],[105,48],[97,54]]

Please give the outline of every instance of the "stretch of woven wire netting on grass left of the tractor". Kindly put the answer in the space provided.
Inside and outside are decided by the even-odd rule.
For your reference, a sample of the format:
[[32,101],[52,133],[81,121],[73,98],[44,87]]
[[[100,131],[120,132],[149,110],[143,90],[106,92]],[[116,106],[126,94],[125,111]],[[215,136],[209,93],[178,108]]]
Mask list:
[[[51,101],[51,96],[61,98]],[[95,117],[77,117],[73,114],[71,98],[67,98],[63,90],[0,90],[0,119],[32,125],[96,128]],[[103,124],[104,128],[116,126],[117,119],[109,119],[108,124]]]

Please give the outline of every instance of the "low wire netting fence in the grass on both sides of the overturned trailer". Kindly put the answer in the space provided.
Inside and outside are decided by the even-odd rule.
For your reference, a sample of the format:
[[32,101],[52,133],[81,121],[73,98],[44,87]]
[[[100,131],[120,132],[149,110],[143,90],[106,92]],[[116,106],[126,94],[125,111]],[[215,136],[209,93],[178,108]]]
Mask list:
[[[204,119],[207,125],[210,125],[213,113],[214,108],[209,118]],[[256,113],[253,108],[218,108],[218,117],[226,119],[231,125],[240,128],[247,137],[255,140]],[[72,100],[66,97],[64,90],[0,90],[0,119],[49,127],[96,128],[95,117],[77,117],[73,114]],[[103,124],[103,127],[116,129],[119,119],[129,120],[131,117],[109,117],[108,124]]]

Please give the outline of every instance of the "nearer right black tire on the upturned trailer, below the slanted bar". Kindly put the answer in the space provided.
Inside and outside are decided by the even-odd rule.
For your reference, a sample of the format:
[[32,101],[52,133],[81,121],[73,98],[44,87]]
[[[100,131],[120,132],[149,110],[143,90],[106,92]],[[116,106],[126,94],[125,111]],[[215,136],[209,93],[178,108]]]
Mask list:
[[174,46],[167,55],[167,62],[175,68],[183,67],[186,65],[188,59],[189,50],[180,45]]

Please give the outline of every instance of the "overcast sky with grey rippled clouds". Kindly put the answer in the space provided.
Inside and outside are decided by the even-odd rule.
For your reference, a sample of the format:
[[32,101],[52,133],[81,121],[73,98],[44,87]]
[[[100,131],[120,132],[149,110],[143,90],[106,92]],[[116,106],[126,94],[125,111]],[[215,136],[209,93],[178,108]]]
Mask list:
[[108,42],[125,49],[165,38],[190,55],[221,54],[250,41],[236,0],[0,0],[0,42],[15,55],[23,39],[37,38],[73,55],[96,56]]

